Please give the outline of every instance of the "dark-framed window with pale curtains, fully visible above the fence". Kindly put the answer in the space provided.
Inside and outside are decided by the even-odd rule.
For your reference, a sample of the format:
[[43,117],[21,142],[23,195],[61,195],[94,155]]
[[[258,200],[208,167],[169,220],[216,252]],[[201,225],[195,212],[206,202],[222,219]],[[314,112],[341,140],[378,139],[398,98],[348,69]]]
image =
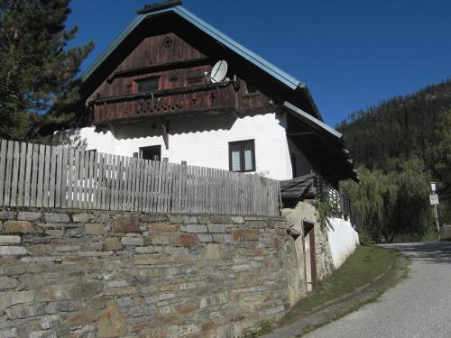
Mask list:
[[235,172],[255,171],[255,142],[229,142],[229,169]]

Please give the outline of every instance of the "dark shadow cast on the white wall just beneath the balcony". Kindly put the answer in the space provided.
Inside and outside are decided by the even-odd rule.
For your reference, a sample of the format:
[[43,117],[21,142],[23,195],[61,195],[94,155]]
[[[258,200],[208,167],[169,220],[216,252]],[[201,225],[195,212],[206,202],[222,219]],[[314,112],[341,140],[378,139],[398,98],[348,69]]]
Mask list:
[[[194,132],[210,132],[210,131],[229,131],[234,124],[241,119],[250,118],[256,114],[220,114],[207,116],[192,116],[185,119],[176,119],[170,121],[170,135],[194,133]],[[275,119],[282,127],[285,122],[276,114]],[[142,122],[133,124],[124,124],[117,127],[113,133],[117,140],[134,139],[141,137],[160,137],[162,135],[161,122]]]

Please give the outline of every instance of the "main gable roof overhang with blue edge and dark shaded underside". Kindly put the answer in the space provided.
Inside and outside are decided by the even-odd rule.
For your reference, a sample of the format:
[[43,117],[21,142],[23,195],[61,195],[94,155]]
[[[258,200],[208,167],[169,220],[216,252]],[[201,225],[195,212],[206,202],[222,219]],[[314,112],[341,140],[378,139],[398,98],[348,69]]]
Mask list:
[[[201,54],[207,54],[210,62],[226,59],[235,75],[257,82],[259,90],[277,104],[289,101],[321,120],[318,108],[303,83],[245,49],[179,5],[140,14],[82,75],[83,96],[92,95],[113,69],[119,66],[118,60],[123,62],[144,37],[170,32],[176,33],[184,41],[189,41],[187,43],[195,50],[201,50]],[[137,65],[143,63],[138,60],[133,62]]]

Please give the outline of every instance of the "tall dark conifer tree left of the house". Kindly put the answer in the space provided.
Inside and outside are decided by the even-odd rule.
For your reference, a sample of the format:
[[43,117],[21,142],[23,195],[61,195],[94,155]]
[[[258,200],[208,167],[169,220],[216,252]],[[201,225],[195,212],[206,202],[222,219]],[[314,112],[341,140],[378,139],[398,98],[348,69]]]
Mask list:
[[67,47],[77,32],[65,29],[69,13],[69,0],[0,0],[0,137],[24,140],[37,123],[74,118],[74,78],[93,43]]

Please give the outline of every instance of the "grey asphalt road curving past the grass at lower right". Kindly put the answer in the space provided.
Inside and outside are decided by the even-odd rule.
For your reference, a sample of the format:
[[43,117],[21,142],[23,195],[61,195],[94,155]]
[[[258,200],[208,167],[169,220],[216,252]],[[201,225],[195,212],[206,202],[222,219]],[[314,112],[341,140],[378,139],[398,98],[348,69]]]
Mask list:
[[451,338],[451,242],[393,244],[411,259],[410,277],[308,338]]

